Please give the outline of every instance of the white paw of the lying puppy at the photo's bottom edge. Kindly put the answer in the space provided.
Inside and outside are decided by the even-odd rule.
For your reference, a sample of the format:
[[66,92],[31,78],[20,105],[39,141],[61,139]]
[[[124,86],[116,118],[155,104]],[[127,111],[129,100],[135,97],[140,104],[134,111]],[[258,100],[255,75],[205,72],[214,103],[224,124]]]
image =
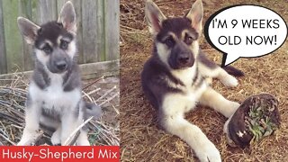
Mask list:
[[206,142],[206,144],[202,146],[199,146],[199,148],[196,148],[195,153],[201,162],[221,161],[220,152],[214,146],[214,144],[211,143],[211,141]]

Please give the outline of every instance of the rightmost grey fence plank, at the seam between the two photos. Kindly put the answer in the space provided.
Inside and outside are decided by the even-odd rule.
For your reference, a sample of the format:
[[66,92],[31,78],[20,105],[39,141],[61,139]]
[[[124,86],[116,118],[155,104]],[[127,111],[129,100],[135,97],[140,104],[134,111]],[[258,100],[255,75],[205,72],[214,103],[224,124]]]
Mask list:
[[120,0],[105,0],[105,55],[106,60],[119,58]]

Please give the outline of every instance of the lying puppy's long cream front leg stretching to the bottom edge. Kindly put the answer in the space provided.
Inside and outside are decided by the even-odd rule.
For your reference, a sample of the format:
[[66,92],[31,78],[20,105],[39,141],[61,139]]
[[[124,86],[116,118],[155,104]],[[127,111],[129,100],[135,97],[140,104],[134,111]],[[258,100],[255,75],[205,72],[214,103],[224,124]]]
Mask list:
[[184,120],[185,108],[194,105],[193,99],[189,102],[182,94],[166,94],[158,113],[161,125],[167,132],[184,139],[202,162],[219,162],[218,149],[202,130]]

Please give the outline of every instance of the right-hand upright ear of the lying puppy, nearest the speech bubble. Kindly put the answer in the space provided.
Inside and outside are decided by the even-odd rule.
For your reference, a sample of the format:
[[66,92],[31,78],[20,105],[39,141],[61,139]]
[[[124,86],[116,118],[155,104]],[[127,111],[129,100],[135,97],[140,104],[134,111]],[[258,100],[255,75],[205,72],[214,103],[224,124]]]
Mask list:
[[189,13],[186,15],[188,19],[192,21],[192,27],[198,32],[202,31],[202,18],[203,18],[203,6],[202,0],[197,0],[193,5]]

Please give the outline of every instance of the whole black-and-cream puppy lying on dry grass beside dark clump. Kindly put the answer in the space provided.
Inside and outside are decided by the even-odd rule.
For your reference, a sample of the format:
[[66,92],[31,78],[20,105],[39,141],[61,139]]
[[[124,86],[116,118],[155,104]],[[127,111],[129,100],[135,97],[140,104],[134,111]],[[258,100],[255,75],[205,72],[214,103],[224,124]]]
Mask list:
[[[214,91],[207,77],[216,77],[227,86],[238,80],[205,58],[199,48],[202,33],[202,1],[197,0],[184,17],[166,18],[151,0],[146,3],[148,28],[154,39],[151,58],[144,65],[141,82],[144,94],[157,108],[160,125],[184,139],[204,162],[218,162],[220,152],[196,125],[184,119],[184,113],[197,103],[207,105],[229,118],[239,103],[225,99]],[[230,74],[242,72],[228,67]]]

